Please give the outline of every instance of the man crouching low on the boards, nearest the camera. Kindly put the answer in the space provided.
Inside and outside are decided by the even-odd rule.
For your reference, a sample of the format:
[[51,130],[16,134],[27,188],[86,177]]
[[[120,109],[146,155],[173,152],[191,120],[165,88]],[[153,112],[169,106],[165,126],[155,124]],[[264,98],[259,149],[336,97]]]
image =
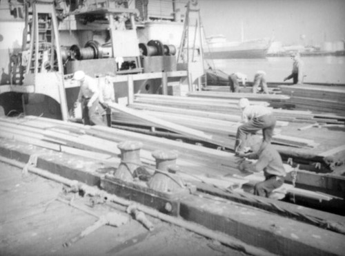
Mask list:
[[245,157],[257,159],[257,162],[252,163],[243,160],[239,163],[239,171],[253,173],[264,171],[265,180],[255,184],[254,195],[268,198],[274,189],[284,184],[286,171],[282,157],[273,145],[266,141],[263,142],[259,136],[251,136],[248,140],[248,146],[253,153],[247,153]]

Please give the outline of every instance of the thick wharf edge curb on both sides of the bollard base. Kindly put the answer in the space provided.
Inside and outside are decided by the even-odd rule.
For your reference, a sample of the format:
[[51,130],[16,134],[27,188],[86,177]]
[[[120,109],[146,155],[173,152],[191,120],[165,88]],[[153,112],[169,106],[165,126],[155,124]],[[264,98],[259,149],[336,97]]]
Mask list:
[[[34,154],[38,156],[38,168],[92,186],[99,186],[103,176],[97,170],[107,167],[95,160],[15,140],[0,145],[1,156],[19,162],[28,162]],[[278,255],[344,255],[345,251],[344,235],[212,195],[182,198],[179,215]]]

